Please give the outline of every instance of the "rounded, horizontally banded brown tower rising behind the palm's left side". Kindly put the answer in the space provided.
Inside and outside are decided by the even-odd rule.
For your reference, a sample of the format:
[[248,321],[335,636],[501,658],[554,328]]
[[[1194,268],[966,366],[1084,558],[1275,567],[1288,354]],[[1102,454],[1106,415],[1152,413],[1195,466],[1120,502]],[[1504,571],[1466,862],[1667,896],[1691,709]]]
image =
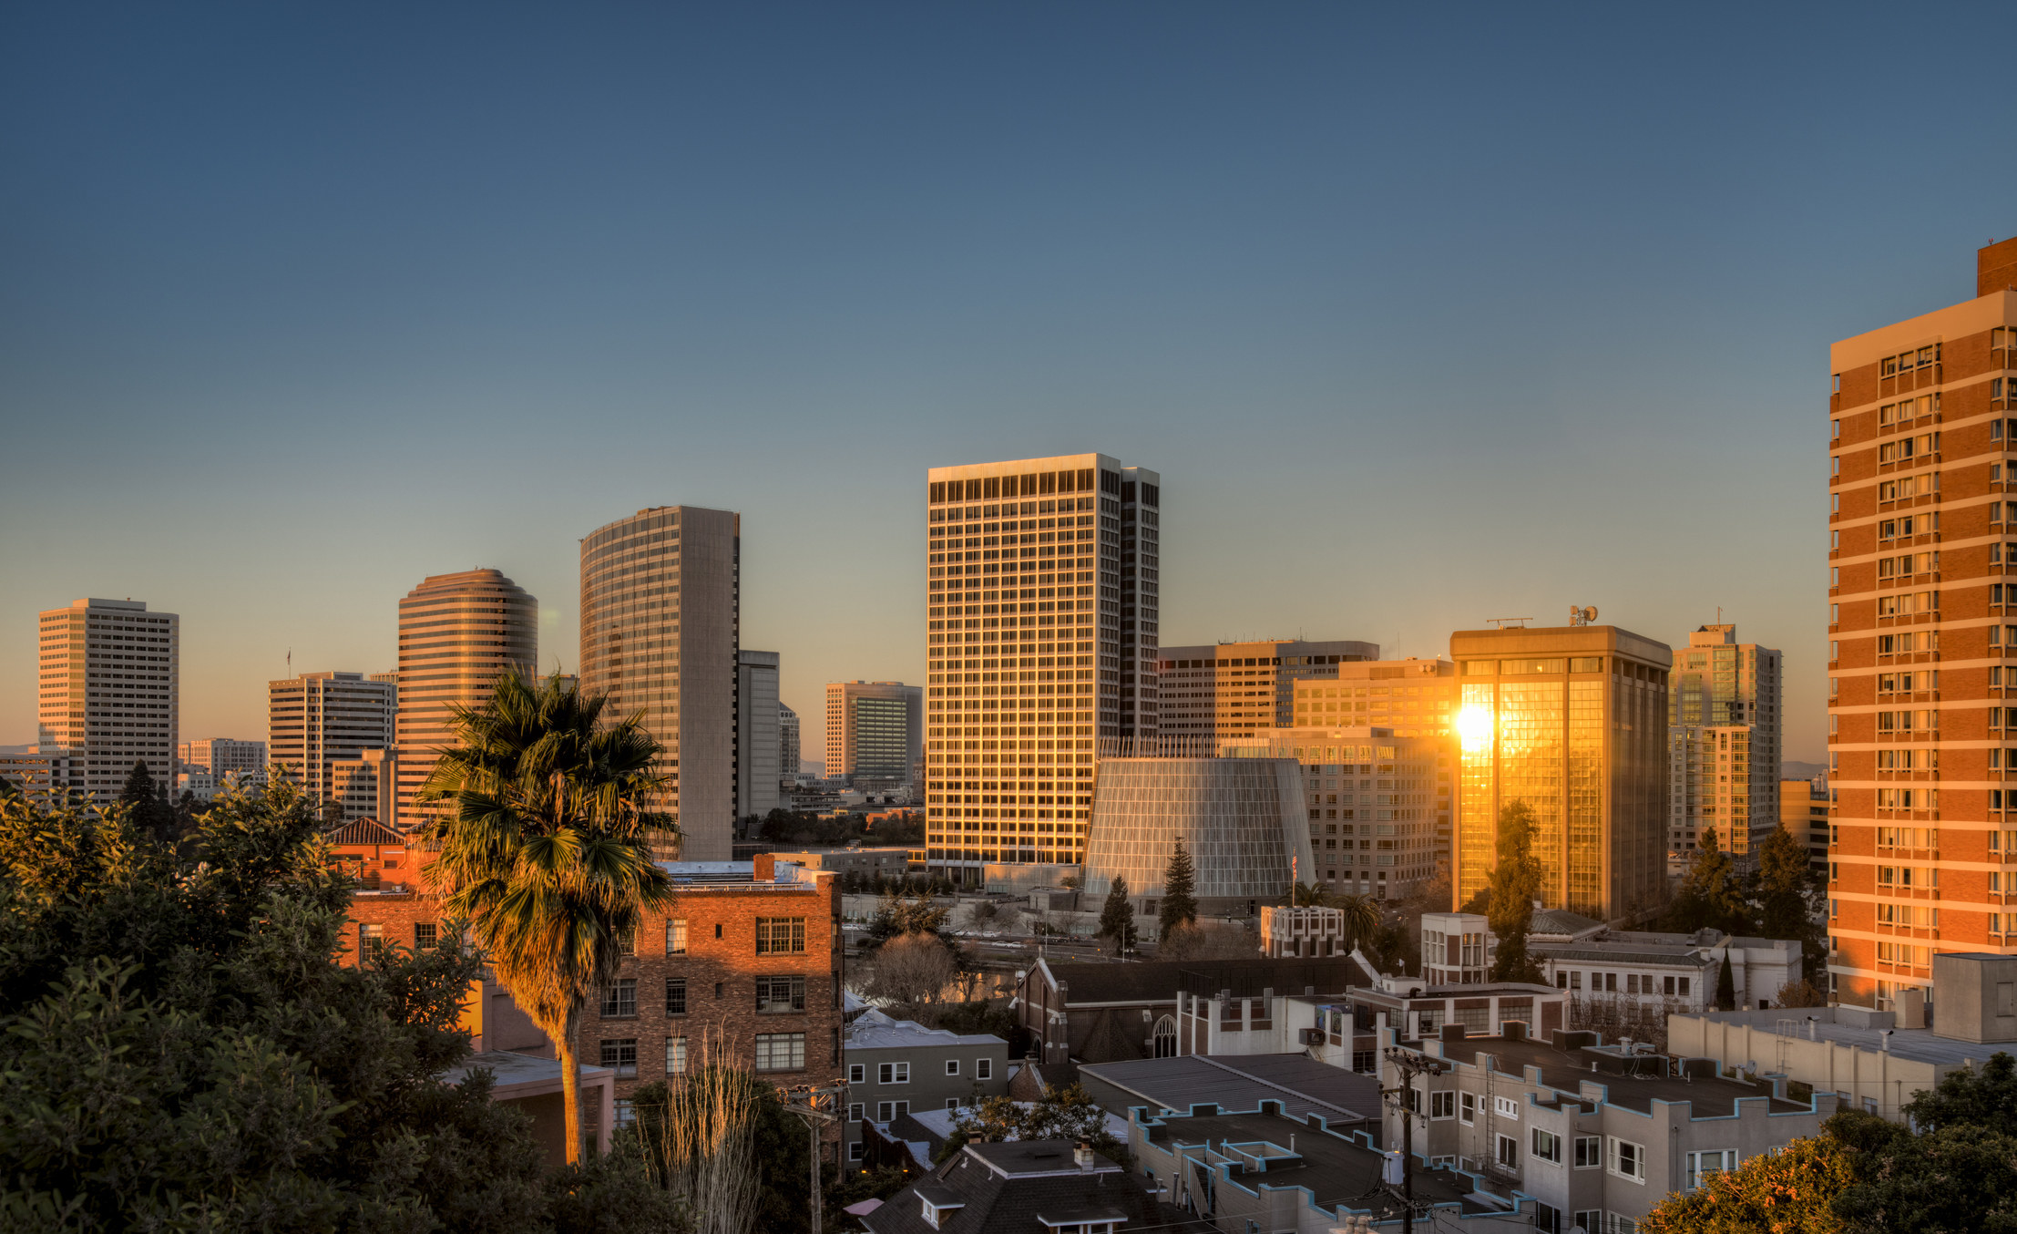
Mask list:
[[539,601],[498,571],[430,575],[405,593],[393,716],[399,827],[422,819],[413,798],[440,750],[456,744],[454,708],[482,708],[500,675],[537,667]]

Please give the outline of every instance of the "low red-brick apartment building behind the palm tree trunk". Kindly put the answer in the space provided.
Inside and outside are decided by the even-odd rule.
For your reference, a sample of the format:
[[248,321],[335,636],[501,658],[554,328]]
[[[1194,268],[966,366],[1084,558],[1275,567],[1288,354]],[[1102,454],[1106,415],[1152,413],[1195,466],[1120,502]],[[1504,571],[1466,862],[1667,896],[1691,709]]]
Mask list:
[[[581,1061],[617,1073],[617,1119],[639,1085],[706,1059],[748,1067],[779,1085],[827,1083],[841,1067],[841,893],[831,871],[760,853],[754,863],[666,863],[678,885],[651,913],[615,982],[581,1016]],[[420,883],[424,887],[424,883]],[[379,948],[432,948],[434,895],[391,879],[351,909],[355,964]],[[553,1057],[553,1042],[486,982],[464,1024],[476,1048]]]

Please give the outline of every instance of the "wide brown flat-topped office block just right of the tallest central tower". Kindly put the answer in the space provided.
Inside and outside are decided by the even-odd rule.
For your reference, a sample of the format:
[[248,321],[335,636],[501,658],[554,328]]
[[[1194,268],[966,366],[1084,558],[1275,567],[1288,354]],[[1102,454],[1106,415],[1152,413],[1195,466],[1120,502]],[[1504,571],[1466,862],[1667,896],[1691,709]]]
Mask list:
[[1218,738],[1289,728],[1295,684],[1335,677],[1339,663],[1380,659],[1380,643],[1261,639],[1156,651],[1156,732],[1164,738]]

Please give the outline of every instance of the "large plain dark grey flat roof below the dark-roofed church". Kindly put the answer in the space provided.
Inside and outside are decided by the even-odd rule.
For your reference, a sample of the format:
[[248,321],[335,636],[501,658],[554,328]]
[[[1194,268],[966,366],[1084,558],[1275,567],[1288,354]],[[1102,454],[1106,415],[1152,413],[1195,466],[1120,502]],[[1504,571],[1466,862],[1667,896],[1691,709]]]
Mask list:
[[1259,1109],[1263,1101],[1281,1101],[1283,1111],[1295,1119],[1321,1115],[1331,1123],[1363,1123],[1380,1117],[1380,1077],[1331,1067],[1309,1055],[1130,1059],[1085,1063],[1079,1073],[1134,1093],[1156,1109],[1186,1111],[1204,1103],[1218,1109]]

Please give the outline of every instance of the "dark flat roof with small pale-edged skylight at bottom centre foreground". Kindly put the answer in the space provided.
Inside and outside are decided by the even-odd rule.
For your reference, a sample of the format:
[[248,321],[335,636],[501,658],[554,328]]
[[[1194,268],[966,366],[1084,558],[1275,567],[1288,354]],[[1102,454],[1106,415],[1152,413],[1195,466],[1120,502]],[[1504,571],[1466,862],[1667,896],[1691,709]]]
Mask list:
[[[1144,1127],[1150,1143],[1156,1145],[1210,1145],[1238,1157],[1240,1147],[1249,1153],[1265,1155],[1265,1171],[1242,1176],[1247,1186],[1269,1184],[1275,1188],[1309,1188],[1311,1202],[1319,1208],[1351,1206],[1357,1212],[1372,1212],[1386,1220],[1400,1216],[1400,1204],[1380,1188],[1380,1169],[1386,1161],[1378,1151],[1339,1135],[1327,1135],[1301,1119],[1273,1113],[1228,1113],[1182,1117],[1170,1115],[1162,1125]],[[1289,1139],[1295,1139],[1295,1153],[1289,1153]],[[1230,1147],[1228,1147],[1230,1145]],[[1263,1145],[1273,1145],[1263,1149]],[[1234,1171],[1236,1178],[1238,1171]],[[1370,1196],[1378,1192],[1378,1196]],[[1470,1198],[1470,1180],[1454,1169],[1416,1169],[1416,1202],[1462,1204],[1464,1212],[1503,1212],[1491,1204]],[[1426,1222],[1424,1222],[1426,1224]]]

